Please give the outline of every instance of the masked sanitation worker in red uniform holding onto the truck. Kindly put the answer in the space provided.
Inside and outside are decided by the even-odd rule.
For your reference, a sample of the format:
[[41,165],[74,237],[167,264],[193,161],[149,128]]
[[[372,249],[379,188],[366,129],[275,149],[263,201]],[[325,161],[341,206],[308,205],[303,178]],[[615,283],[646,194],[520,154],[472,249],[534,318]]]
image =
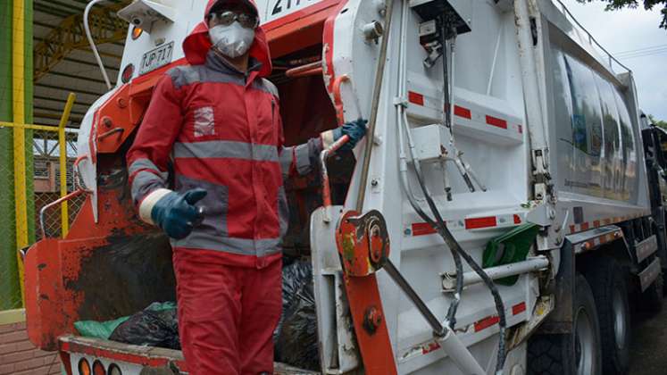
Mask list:
[[288,227],[283,175],[307,173],[343,135],[354,147],[365,121],[283,146],[252,0],[210,1],[183,49],[189,64],[159,81],[129,150],[132,197],[140,218],[171,237],[189,373],[271,374]]

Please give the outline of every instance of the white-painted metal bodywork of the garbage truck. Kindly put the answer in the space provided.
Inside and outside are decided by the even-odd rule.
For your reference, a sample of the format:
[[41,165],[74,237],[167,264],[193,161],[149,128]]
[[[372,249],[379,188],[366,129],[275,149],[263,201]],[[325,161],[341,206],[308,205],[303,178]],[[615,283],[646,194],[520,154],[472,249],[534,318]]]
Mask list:
[[[287,20],[287,16],[326,2],[257,3],[266,24]],[[180,44],[202,20],[206,1],[139,3],[171,11],[160,8],[162,17],[151,16],[157,21],[148,15],[137,21],[144,22],[146,29],[137,40],[130,25],[121,72],[133,64],[131,79],[159,67],[160,63],[149,66],[154,59],[171,63],[183,58]],[[332,75],[349,77],[341,88],[341,99],[345,119],[352,121],[371,115],[380,44],[364,36],[363,26],[382,21],[379,11],[384,2],[341,3],[346,4],[338,10],[332,38],[322,41],[322,79],[329,86]],[[539,259],[548,259],[548,267],[522,273],[511,287],[498,286],[507,327],[516,335],[508,340],[515,346],[507,354],[504,373],[523,374],[527,371],[523,338],[558,303],[540,287],[539,278],[545,274],[547,279],[555,278],[567,237],[579,235],[571,242],[580,244],[592,238],[581,235],[588,229],[650,215],[636,89],[631,73],[616,64],[611,66],[611,58],[599,54],[599,47],[556,0],[516,1],[523,3],[526,15],[534,20],[532,33],[521,25],[517,14],[520,5],[515,10],[512,1],[454,1],[450,3],[464,14],[471,32],[457,37],[450,66],[454,70],[455,105],[450,134],[442,126],[446,104],[442,58],[432,68],[423,63],[427,52],[419,43],[421,20],[413,11],[413,6],[423,3],[428,2],[396,0],[392,27],[385,30],[387,64],[363,212],[378,210],[387,219],[391,261],[440,321],[445,321],[454,299],[452,293],[443,291],[442,275],[454,273],[454,262],[442,238],[425,227],[414,212],[409,193],[402,186],[399,167],[406,150],[400,150],[397,134],[404,119],[412,129],[426,185],[447,228],[478,262],[488,241],[507,230],[525,222],[543,229],[529,259],[541,255]],[[131,19],[132,14],[124,16]],[[521,37],[525,43],[527,35],[535,46],[521,44]],[[158,55],[152,57],[151,51]],[[123,84],[119,79],[115,89]],[[95,153],[88,142],[90,134],[96,134],[92,113],[104,100],[91,107],[82,124],[81,155]],[[283,96],[281,100],[290,98]],[[399,114],[402,105],[405,117]],[[479,178],[476,191],[470,191],[454,163],[439,158],[443,148],[450,154],[454,149],[463,152],[464,162]],[[359,166],[363,146],[356,155]],[[86,185],[95,187],[95,164],[82,162],[79,168]],[[414,199],[428,212],[414,172],[408,170]],[[544,176],[546,183],[540,186],[538,177]],[[361,168],[357,168],[346,208],[356,203],[360,179]],[[451,186],[451,200],[447,199],[446,183]],[[313,212],[311,220],[321,371],[329,374],[354,371],[363,362],[354,347],[334,237],[343,208],[332,210],[334,220],[330,223],[323,220],[324,209]],[[465,266],[465,271],[471,269]],[[432,329],[410,299],[386,272],[377,275],[398,373],[461,373],[439,349]],[[484,284],[464,288],[456,318],[458,338],[484,371],[493,373],[499,327],[496,305]]]

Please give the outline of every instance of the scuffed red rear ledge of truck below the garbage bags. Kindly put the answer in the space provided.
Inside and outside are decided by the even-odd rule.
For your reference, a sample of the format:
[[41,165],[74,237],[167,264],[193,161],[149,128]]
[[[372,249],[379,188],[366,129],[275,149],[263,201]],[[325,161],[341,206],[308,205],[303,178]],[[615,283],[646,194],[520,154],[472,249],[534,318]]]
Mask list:
[[[63,336],[59,339],[61,353],[69,354],[72,373],[77,373],[79,358],[87,358],[89,362],[97,359],[108,362],[135,365],[158,370],[151,373],[187,374],[183,353],[179,350],[164,349],[152,346],[134,346],[100,338]],[[74,359],[75,361],[72,361]],[[67,365],[63,362],[63,364]],[[108,364],[107,364],[108,365]],[[124,367],[124,366],[123,366]],[[163,371],[159,371],[163,369]],[[142,371],[143,373],[143,371]],[[320,375],[320,372],[300,370],[284,363],[276,363],[276,375]]]

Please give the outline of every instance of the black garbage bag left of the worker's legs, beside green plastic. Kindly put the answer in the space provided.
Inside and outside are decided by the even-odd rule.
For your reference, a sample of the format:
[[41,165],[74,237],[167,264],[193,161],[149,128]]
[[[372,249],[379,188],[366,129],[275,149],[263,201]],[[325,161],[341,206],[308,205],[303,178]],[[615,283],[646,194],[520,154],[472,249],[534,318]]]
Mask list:
[[175,304],[151,304],[114,329],[109,339],[131,345],[180,350]]

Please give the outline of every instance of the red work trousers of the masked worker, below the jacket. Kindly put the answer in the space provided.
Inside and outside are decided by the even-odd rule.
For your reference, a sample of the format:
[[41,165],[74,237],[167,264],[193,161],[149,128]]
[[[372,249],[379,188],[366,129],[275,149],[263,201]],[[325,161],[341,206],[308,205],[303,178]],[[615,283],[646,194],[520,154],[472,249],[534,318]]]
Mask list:
[[176,250],[173,257],[180,344],[188,372],[272,374],[282,262],[258,270],[202,262],[196,253]]

